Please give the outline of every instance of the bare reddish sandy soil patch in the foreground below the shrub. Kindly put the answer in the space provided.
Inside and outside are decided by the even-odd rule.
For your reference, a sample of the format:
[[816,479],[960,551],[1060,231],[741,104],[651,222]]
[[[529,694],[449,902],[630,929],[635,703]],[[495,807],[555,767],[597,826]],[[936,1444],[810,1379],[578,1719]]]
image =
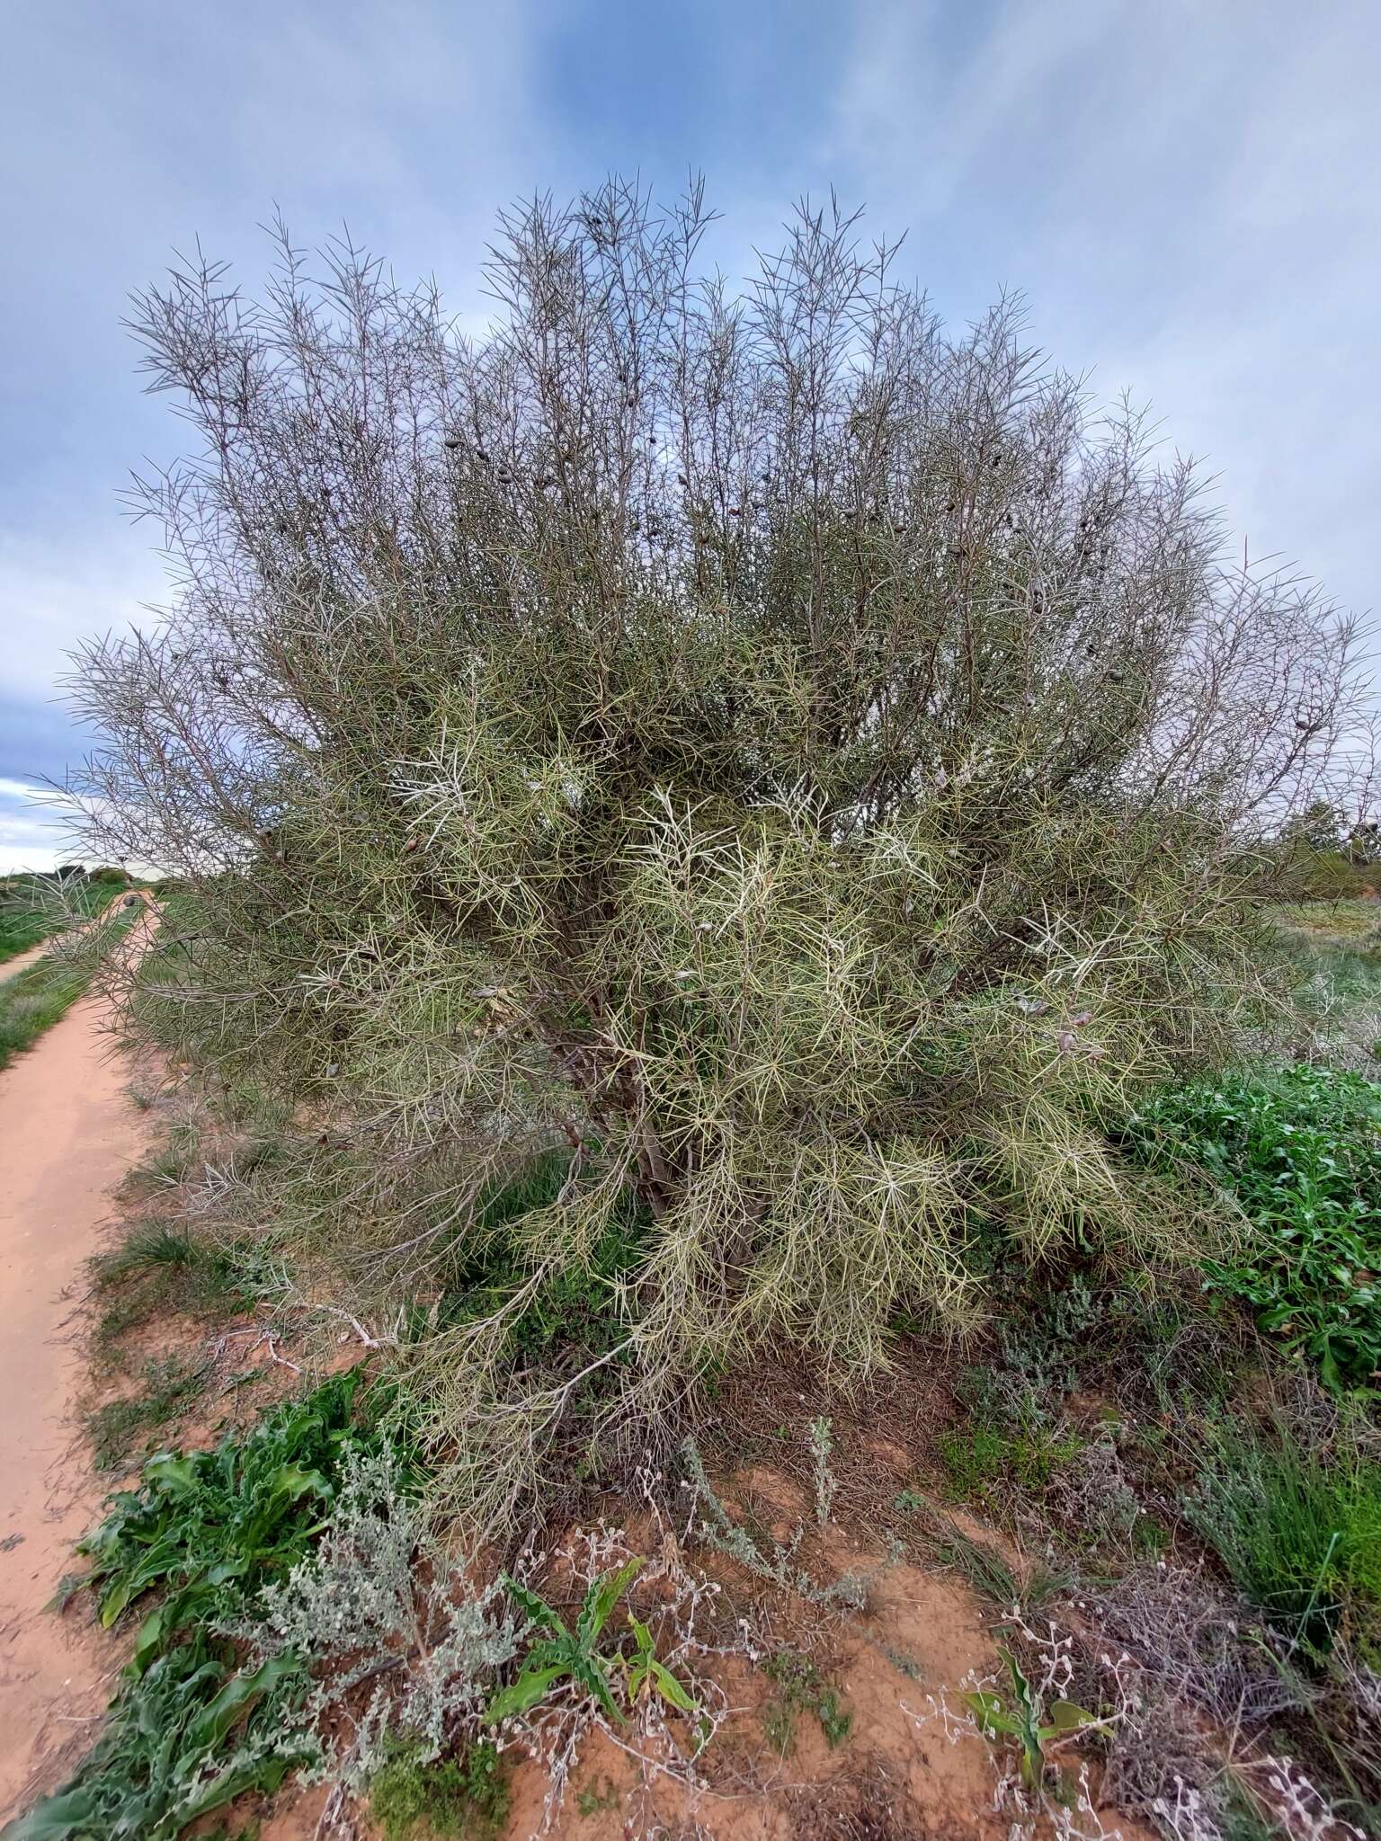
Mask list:
[[[790,1480],[753,1467],[733,1480],[751,1488],[779,1521],[783,1537],[808,1519],[810,1502]],[[882,1556],[841,1530],[812,1543],[825,1574],[869,1567]],[[735,1569],[727,1565],[727,1572]],[[737,1580],[742,1591],[751,1581]],[[795,1719],[794,1745],[779,1756],[762,1712],[773,1688],[744,1659],[714,1668],[731,1716],[705,1753],[690,1789],[639,1773],[606,1734],[591,1736],[571,1775],[563,1804],[549,1810],[545,1769],[510,1754],[512,1806],[499,1841],[1007,1841],[1011,1815],[994,1808],[996,1766],[976,1731],[946,1736],[935,1703],[957,1710],[965,1679],[996,1662],[998,1613],[956,1578],[924,1567],[888,1567],[864,1615],[836,1618],[801,1600],[760,1602],[773,1640],[794,1640],[821,1657],[830,1686],[853,1714],[845,1743],[830,1751],[808,1712]],[[586,1812],[580,1810],[582,1791]],[[317,1841],[326,1789],[289,1789],[269,1813],[260,1841]],[[1156,1841],[1138,1821],[1101,1812],[1105,1834]],[[352,1817],[352,1841],[377,1841],[366,1812]],[[1037,1841],[1053,1841],[1048,1819]]]

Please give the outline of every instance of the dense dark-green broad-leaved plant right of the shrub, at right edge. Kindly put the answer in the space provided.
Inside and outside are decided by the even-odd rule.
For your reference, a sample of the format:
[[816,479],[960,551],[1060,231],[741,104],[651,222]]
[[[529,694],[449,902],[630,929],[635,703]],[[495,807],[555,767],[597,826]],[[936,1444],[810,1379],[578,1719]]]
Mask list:
[[1329,1386],[1381,1366],[1381,1086],[1293,1066],[1171,1088],[1140,1108],[1142,1154],[1195,1165],[1250,1237],[1210,1285],[1318,1364]]

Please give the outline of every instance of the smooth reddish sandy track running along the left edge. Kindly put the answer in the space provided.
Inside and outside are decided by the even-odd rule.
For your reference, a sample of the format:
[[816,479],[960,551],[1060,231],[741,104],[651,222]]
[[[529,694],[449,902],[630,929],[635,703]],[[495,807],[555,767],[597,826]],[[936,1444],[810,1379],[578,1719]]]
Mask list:
[[144,1140],[101,1014],[75,1005],[0,1073],[0,1819],[87,1751],[118,1666],[87,1618],[44,1609],[101,1500],[70,1421],[83,1261]]

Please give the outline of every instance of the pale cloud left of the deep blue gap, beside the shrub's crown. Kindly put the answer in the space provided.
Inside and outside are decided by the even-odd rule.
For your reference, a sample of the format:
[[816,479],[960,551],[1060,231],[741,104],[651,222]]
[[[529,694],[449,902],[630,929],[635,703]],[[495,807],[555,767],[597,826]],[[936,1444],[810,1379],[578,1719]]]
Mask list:
[[[24,81],[0,142],[0,703],[24,714],[0,727],[0,771],[61,773],[39,711],[66,652],[166,593],[160,532],[129,527],[118,488],[184,431],[140,394],[129,291],[197,237],[258,289],[280,206],[313,243],[348,221],[400,276],[449,272],[475,318],[495,204],[547,153],[523,0],[64,0],[6,20],[6,52]],[[42,755],[17,758],[39,729]]]

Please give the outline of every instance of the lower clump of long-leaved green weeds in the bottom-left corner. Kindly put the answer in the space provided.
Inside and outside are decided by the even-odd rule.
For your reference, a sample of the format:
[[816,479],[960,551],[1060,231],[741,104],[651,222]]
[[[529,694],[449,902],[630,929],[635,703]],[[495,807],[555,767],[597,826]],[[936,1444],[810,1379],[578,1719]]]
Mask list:
[[6,1841],[173,1841],[245,1791],[273,1793],[306,1756],[285,1742],[302,1686],[291,1657],[239,1670],[197,1631],[122,1685],[77,1775]]

